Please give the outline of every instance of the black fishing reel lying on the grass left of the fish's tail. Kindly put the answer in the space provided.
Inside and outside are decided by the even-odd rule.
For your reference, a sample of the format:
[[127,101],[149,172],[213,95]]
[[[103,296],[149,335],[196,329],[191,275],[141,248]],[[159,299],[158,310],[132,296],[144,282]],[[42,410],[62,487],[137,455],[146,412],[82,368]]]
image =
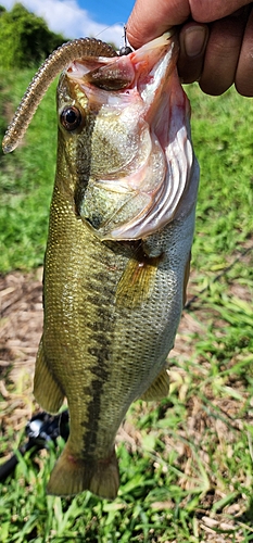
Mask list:
[[[60,435],[66,441],[69,433],[68,418],[68,409],[55,416],[46,412],[34,415],[25,427],[28,441],[18,449],[20,454],[24,456],[27,451],[34,449],[34,455],[41,449],[48,449],[49,442],[55,442]],[[14,471],[17,464],[18,455],[13,454],[9,460],[0,466],[0,482],[3,482]]]

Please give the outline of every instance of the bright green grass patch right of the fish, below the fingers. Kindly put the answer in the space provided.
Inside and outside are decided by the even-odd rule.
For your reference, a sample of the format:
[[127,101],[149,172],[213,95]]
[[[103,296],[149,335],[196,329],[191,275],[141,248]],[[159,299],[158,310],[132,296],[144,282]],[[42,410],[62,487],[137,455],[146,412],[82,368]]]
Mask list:
[[201,165],[193,266],[211,275],[253,231],[253,102],[233,89],[219,98],[189,92]]

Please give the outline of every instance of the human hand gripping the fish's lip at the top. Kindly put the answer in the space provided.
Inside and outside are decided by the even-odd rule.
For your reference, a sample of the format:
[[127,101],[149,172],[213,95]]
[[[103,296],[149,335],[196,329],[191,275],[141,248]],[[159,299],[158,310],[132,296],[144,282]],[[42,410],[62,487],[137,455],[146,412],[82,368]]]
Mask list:
[[249,0],[137,0],[127,23],[134,48],[181,25],[178,72],[208,94],[235,84],[253,96],[253,3]]

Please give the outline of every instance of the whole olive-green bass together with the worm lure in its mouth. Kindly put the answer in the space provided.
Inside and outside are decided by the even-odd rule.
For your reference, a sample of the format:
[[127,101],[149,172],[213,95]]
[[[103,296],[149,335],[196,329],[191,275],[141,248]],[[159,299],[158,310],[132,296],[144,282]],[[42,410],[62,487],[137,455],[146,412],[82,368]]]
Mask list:
[[69,437],[49,494],[115,498],[119,425],[137,399],[168,394],[200,175],[178,50],[174,29],[125,55],[93,38],[62,46],[3,140],[18,144],[61,71],[34,394],[52,414],[67,399]]

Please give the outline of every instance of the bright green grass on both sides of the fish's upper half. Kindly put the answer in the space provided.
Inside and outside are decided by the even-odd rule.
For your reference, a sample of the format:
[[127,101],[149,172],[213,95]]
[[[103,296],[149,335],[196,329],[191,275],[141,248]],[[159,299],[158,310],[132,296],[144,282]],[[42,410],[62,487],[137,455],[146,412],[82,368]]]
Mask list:
[[[18,104],[31,71],[0,74],[0,136],[4,112]],[[0,270],[42,263],[52,193],[55,149],[55,84],[45,97],[22,147],[0,155]],[[204,274],[222,268],[253,230],[253,103],[233,90],[219,98],[189,89],[192,137],[201,164],[193,266]]]

